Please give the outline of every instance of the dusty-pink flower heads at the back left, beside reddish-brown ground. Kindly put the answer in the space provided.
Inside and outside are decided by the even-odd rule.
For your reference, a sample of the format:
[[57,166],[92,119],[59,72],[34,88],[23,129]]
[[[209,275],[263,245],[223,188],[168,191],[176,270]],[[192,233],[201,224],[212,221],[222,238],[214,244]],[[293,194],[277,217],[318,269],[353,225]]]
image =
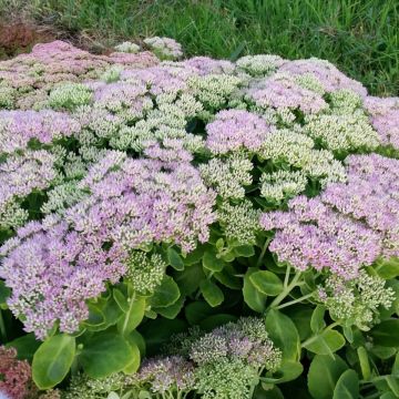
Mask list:
[[0,66],[0,81],[18,92],[14,108],[29,110],[45,106],[49,89],[60,82],[99,79],[112,65],[144,68],[158,63],[151,52],[95,55],[69,43],[54,41],[37,44]]

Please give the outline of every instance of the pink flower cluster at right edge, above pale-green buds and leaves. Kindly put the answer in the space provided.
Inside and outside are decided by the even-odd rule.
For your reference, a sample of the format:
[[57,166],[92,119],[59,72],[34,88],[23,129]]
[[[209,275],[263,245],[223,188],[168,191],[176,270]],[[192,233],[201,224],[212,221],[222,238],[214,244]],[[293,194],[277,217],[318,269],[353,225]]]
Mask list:
[[348,182],[329,184],[316,198],[298,196],[288,212],[265,213],[264,229],[276,229],[269,249],[300,270],[327,268],[351,279],[378,257],[398,256],[399,161],[352,155]]

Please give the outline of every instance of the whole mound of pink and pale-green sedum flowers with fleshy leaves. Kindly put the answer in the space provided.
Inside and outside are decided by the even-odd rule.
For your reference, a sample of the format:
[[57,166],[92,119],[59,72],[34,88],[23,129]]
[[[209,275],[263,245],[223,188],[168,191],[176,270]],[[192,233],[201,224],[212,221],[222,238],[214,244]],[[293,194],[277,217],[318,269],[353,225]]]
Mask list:
[[143,45],[0,63],[0,305],[38,387],[398,395],[399,99],[324,60]]

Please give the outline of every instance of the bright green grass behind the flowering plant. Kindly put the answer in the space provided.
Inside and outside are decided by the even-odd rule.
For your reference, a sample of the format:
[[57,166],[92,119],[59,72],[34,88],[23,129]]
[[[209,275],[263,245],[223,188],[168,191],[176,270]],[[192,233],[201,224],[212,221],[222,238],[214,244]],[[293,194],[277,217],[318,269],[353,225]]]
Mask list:
[[[0,0],[4,1],[4,0]],[[14,1],[14,0],[13,0]],[[398,0],[33,0],[45,23],[112,43],[178,40],[186,54],[318,57],[371,93],[399,93]]]

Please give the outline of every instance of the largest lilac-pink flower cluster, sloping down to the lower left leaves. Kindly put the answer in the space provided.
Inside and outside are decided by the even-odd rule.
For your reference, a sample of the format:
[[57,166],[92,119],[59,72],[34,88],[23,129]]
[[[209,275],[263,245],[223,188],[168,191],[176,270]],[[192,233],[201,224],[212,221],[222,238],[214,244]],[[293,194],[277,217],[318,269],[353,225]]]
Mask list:
[[91,196],[69,208],[64,221],[31,222],[2,248],[9,307],[38,338],[57,320],[60,330],[75,331],[89,316],[85,300],[125,273],[129,250],[153,242],[192,250],[196,239],[208,239],[215,219],[215,194],[187,163],[171,167],[110,152],[80,186]]

